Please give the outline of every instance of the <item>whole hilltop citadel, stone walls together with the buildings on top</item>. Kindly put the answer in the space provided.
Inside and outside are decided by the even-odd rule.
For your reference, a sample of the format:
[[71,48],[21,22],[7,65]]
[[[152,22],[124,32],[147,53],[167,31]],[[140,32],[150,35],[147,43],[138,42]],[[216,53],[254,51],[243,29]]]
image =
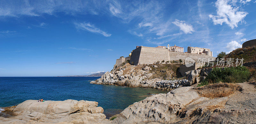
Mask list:
[[116,59],[116,65],[119,66],[122,63],[129,60],[132,65],[143,65],[143,64],[153,64],[156,62],[171,62],[174,60],[184,61],[186,58],[191,58],[193,60],[197,59],[213,59],[212,51],[207,48],[191,47],[188,46],[188,52],[184,52],[184,48],[180,46],[157,46],[157,47],[147,47],[147,46],[136,46],[129,57],[120,57]]

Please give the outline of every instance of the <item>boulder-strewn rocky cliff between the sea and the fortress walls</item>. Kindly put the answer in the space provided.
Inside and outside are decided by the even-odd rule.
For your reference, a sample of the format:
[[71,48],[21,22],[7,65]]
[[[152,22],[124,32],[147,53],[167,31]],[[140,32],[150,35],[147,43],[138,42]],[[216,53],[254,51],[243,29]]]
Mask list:
[[124,66],[106,72],[100,79],[91,81],[91,83],[172,90],[185,86],[186,83],[188,83],[188,80],[186,79],[173,78],[177,76],[177,69],[179,66],[179,63],[137,66],[127,63]]

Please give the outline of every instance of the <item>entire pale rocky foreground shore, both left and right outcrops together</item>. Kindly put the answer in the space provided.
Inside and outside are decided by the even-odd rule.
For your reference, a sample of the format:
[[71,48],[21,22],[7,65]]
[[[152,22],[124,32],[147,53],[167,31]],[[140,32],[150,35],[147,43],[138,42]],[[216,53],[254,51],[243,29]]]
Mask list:
[[[112,121],[94,101],[26,100],[4,110],[0,123],[255,123],[255,86],[247,82],[180,87],[135,102]],[[232,92],[222,97],[208,95],[221,89]]]

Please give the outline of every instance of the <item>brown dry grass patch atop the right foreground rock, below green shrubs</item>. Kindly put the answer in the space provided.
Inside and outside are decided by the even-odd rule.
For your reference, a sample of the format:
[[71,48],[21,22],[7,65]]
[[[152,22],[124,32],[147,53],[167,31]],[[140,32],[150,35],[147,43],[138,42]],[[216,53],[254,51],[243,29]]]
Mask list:
[[226,96],[232,95],[237,91],[242,91],[242,88],[236,84],[217,83],[217,84],[197,87],[196,90],[202,97],[220,98],[220,97],[226,97]]

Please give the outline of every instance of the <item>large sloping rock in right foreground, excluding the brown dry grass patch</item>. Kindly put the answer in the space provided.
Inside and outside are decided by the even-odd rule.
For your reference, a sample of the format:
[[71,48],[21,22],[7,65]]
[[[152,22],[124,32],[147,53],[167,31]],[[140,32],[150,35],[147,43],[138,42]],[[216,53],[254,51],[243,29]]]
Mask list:
[[192,86],[180,87],[135,102],[112,122],[126,123],[255,123],[256,89],[239,84],[242,91],[222,98],[206,98]]

